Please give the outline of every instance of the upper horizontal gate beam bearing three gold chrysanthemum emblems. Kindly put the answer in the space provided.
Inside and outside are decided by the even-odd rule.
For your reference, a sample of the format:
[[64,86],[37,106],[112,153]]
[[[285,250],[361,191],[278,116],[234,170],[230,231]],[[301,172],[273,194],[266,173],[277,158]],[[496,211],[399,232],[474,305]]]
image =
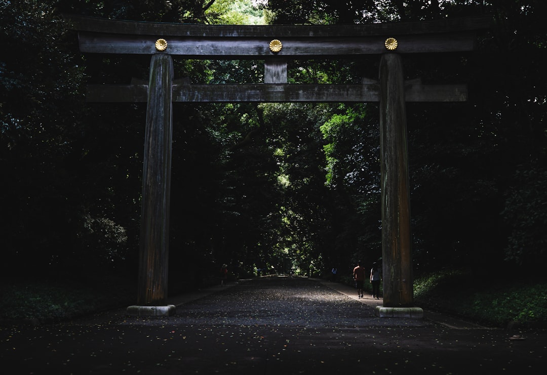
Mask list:
[[[164,37],[132,36],[120,34],[79,34],[80,51],[102,54],[139,54],[153,55],[166,53],[185,58],[219,58],[233,60],[238,58],[266,58],[283,56],[290,58],[312,57],[344,57],[386,52],[385,41],[389,37],[397,39],[399,54],[432,53],[432,52],[463,52],[473,50],[475,34],[473,32],[450,34],[384,34],[367,37],[300,37],[283,38],[273,35],[269,38],[196,38],[196,37]],[[167,49],[158,52],[155,47],[158,38],[165,38]],[[270,50],[270,41],[281,39],[281,51]]]

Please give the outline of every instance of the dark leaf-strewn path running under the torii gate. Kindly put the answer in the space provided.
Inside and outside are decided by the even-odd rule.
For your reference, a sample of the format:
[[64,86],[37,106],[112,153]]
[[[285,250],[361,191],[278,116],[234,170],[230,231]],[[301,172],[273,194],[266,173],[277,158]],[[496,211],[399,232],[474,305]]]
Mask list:
[[[376,318],[381,301],[306,278],[240,280],[177,296],[177,314],[124,309],[0,330],[3,374],[539,374],[547,332],[487,329],[426,312]],[[366,296],[365,296],[366,297]],[[520,335],[516,339],[514,335]]]

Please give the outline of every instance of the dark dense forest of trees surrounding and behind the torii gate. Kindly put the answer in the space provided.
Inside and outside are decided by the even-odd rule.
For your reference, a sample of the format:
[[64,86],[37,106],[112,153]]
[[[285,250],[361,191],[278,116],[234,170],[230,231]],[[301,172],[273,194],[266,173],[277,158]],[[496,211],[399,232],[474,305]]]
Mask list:
[[[89,84],[147,80],[146,55],[83,54],[66,15],[234,25],[491,16],[474,51],[408,55],[406,79],[467,84],[464,103],[408,103],[416,277],[464,269],[543,281],[547,24],[543,1],[0,0],[4,280],[137,277],[146,104],[88,103]],[[379,56],[290,61],[289,83],[377,79]],[[260,83],[254,60],[174,61],[192,83]],[[170,288],[226,263],[236,278],[327,277],[381,261],[374,103],[173,108]]]

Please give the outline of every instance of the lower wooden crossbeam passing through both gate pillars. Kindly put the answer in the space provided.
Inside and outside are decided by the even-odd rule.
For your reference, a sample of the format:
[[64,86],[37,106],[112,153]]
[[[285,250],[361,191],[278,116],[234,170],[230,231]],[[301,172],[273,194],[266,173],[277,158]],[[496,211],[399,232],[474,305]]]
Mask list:
[[[172,101],[183,103],[218,102],[379,102],[380,86],[241,84],[172,85]],[[147,102],[148,85],[88,85],[88,102]],[[407,102],[464,102],[467,85],[405,84]]]

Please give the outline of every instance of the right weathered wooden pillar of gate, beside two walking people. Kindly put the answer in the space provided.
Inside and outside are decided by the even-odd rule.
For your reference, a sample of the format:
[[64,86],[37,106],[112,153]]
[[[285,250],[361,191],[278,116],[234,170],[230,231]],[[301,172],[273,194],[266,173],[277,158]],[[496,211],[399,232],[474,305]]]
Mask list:
[[406,110],[401,57],[380,61],[383,306],[414,303]]

